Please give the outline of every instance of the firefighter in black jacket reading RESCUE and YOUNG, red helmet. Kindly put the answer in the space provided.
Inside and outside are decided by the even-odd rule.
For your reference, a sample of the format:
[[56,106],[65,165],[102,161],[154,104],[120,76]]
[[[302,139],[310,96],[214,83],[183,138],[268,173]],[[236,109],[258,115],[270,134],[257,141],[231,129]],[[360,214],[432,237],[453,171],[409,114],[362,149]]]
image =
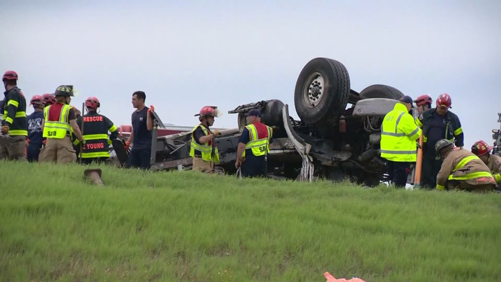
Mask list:
[[[118,137],[117,126],[108,117],[97,113],[100,106],[97,97],[88,97],[85,100],[87,114],[82,117],[85,122],[82,132],[85,139],[85,145],[82,146],[83,164],[101,163],[110,158],[108,151],[111,140]],[[108,131],[111,132],[109,139]]]

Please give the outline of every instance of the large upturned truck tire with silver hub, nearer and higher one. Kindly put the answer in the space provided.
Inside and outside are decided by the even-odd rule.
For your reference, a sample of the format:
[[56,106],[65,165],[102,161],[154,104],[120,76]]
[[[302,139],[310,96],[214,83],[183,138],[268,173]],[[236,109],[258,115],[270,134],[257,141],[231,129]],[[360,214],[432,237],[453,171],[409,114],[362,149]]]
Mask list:
[[348,104],[350,77],[346,67],[332,59],[315,58],[301,70],[294,91],[296,112],[305,123],[335,125]]

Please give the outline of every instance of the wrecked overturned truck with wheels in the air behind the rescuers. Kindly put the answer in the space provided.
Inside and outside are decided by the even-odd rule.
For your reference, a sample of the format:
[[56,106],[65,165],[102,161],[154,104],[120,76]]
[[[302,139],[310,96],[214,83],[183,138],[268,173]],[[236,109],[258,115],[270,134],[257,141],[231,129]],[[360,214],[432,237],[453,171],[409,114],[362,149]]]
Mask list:
[[[296,83],[294,104],[300,120],[292,118],[289,106],[276,99],[228,111],[237,114],[238,127],[222,130],[214,138],[220,154],[217,166],[228,174],[236,172],[238,139],[246,125],[244,114],[258,108],[262,122],[274,128],[274,143],[267,156],[269,177],[307,181],[323,177],[378,185],[386,171],[380,157],[382,119],[402,96],[399,90],[381,84],[356,92],[350,88],[342,63],[315,58],[304,66]],[[155,124],[162,126],[158,116]],[[191,132],[162,137],[154,134],[153,138],[151,170],[190,169]]]

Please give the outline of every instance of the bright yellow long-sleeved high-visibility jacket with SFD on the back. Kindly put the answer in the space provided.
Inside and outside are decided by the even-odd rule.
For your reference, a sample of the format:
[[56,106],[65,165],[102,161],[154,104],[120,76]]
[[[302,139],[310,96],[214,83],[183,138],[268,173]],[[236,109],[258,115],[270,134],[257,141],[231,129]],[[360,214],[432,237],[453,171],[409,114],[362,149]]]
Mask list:
[[421,129],[407,112],[407,108],[396,103],[381,124],[381,157],[394,162],[416,161],[416,139]]

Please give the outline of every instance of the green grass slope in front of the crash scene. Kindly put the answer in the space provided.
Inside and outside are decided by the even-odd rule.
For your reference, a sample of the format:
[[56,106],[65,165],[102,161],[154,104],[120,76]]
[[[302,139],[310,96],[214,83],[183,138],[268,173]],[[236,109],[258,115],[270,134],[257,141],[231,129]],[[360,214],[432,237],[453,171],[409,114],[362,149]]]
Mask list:
[[501,194],[0,162],[1,281],[501,280]]

